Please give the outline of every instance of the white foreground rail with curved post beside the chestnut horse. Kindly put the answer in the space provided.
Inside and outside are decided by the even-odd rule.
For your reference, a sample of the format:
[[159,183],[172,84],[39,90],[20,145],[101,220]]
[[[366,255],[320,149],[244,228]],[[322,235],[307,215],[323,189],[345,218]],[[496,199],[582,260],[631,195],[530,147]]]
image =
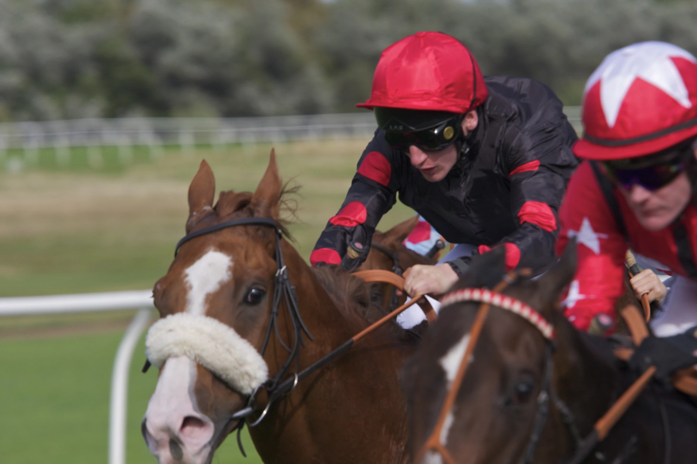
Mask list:
[[140,335],[151,319],[151,290],[0,298],[0,317],[139,309],[118,345],[109,404],[109,464],[125,464],[128,370]]

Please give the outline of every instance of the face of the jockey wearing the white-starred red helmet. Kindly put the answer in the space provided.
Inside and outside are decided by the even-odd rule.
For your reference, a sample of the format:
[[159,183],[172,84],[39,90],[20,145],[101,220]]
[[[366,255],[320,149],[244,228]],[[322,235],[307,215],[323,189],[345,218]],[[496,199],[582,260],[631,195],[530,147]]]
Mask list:
[[658,190],[650,191],[638,184],[629,190],[618,190],[625,196],[641,226],[650,232],[671,225],[692,197],[692,187],[686,173],[678,175],[673,182]]

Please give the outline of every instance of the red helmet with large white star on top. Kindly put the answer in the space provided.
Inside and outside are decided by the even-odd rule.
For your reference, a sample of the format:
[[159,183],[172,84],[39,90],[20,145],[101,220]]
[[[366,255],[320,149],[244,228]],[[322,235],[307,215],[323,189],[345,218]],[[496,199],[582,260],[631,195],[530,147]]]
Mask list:
[[659,152],[697,134],[697,59],[666,42],[613,51],[583,92],[583,138],[574,154],[623,159]]

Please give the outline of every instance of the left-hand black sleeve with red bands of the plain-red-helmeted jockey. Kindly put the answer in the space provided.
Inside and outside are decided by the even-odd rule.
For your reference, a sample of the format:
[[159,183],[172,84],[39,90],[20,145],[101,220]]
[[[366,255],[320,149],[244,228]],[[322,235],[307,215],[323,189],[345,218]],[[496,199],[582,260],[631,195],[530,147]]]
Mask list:
[[383,214],[395,205],[399,190],[397,171],[403,155],[385,142],[378,129],[368,143],[353,176],[346,199],[336,216],[329,219],[310,255],[310,263],[339,264],[349,243],[360,243],[362,255],[350,269],[360,266],[368,255],[375,227]]

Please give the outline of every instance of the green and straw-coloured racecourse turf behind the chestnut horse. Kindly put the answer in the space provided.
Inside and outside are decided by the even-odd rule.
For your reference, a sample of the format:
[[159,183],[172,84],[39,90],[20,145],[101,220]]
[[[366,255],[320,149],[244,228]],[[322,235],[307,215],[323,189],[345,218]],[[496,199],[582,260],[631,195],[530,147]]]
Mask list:
[[[351,183],[366,141],[276,145],[284,179],[301,184],[290,227],[307,259]],[[147,289],[167,271],[183,235],[187,187],[205,158],[217,190],[254,190],[270,145],[167,151],[130,166],[80,165],[0,171],[0,297]],[[17,163],[15,163],[17,166]],[[401,204],[381,229],[411,216]],[[0,317],[0,463],[107,460],[109,382],[132,312]],[[156,372],[140,374],[142,340],[131,366],[128,463],[153,463],[139,422]],[[257,463],[250,440],[242,458],[233,437],[214,463]]]

